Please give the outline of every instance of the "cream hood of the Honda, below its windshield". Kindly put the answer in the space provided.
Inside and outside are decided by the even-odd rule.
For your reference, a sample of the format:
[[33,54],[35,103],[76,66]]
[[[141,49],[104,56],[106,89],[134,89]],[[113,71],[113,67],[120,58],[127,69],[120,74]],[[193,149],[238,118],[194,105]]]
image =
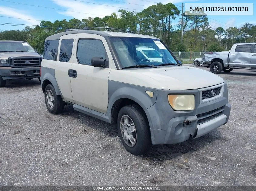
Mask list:
[[[188,66],[132,70],[146,75],[170,90],[190,90],[221,84],[224,80],[211,72]],[[139,75],[139,74],[138,74]]]

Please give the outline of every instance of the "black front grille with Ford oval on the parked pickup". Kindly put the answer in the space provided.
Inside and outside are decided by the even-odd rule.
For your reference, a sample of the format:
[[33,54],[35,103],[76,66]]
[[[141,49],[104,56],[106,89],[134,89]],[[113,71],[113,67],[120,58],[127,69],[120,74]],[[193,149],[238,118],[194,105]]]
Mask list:
[[12,68],[36,67],[41,65],[41,57],[13,57],[9,58],[9,65]]

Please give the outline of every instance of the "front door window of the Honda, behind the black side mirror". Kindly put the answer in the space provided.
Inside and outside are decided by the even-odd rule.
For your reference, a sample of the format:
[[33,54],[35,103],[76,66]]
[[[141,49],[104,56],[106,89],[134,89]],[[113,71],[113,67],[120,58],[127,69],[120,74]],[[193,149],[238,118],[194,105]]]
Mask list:
[[108,58],[101,40],[78,40],[77,59],[79,64],[91,65],[91,58],[93,57],[102,57],[103,59]]

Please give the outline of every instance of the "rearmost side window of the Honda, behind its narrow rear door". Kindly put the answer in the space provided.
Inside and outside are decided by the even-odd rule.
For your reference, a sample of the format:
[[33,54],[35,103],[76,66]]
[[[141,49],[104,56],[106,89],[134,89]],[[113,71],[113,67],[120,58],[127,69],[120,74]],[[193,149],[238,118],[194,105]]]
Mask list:
[[57,61],[59,40],[45,41],[44,59]]

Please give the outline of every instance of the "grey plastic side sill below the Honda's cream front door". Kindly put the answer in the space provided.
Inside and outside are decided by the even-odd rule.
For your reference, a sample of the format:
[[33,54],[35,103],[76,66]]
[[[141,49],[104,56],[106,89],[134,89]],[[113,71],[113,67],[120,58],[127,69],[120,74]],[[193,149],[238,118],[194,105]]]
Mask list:
[[97,119],[100,119],[102,121],[105,121],[105,122],[108,122],[108,123],[111,123],[111,119],[110,119],[110,113],[109,113],[109,116],[107,114],[104,114],[104,113],[100,113],[98,111],[95,111],[95,110],[91,110],[87,107],[83,107],[81,105],[77,105],[77,104],[74,104],[73,105],[73,108],[74,110],[76,111],[79,111],[81,113],[84,113],[86,115],[89,115],[89,116],[92,116],[92,117],[95,117]]

